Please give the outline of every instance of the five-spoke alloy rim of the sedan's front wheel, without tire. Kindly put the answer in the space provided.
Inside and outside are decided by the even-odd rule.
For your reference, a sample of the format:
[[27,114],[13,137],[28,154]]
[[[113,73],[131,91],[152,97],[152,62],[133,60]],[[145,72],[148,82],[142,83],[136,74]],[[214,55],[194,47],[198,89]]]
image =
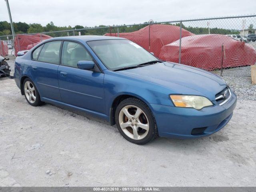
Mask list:
[[127,105],[118,116],[119,125],[124,134],[134,140],[142,140],[148,134],[149,121],[146,114],[137,106]]

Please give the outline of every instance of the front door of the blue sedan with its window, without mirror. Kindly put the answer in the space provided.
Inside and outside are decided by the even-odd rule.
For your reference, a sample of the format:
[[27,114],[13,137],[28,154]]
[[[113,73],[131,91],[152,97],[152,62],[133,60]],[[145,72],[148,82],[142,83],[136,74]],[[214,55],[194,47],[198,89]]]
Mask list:
[[92,57],[82,44],[64,41],[58,80],[62,101],[81,108],[104,113],[104,74],[100,71],[82,70],[77,62]]

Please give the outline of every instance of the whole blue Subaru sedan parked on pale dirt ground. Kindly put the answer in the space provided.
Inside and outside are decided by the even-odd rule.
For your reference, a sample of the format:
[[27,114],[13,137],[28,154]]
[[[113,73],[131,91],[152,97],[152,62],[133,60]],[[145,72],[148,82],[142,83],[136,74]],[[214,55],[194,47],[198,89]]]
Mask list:
[[218,76],[159,60],[124,38],[51,38],[18,55],[14,78],[30,105],[102,118],[135,144],[213,134],[236,106]]

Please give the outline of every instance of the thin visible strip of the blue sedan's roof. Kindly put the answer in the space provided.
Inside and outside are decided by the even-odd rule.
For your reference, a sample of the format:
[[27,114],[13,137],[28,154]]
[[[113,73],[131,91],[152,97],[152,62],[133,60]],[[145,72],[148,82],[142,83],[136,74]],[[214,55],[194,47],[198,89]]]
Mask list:
[[49,40],[80,40],[80,41],[95,41],[95,40],[111,40],[111,39],[125,39],[113,36],[100,36],[100,35],[82,35],[82,36],[66,36],[66,37],[54,37]]

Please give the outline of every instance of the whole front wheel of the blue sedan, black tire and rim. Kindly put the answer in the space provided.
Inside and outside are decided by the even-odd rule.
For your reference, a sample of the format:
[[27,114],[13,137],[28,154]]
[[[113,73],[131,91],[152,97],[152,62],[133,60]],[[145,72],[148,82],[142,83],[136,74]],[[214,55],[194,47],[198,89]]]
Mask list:
[[120,102],[115,121],[120,134],[132,143],[143,145],[158,136],[152,111],[138,98],[127,98]]

